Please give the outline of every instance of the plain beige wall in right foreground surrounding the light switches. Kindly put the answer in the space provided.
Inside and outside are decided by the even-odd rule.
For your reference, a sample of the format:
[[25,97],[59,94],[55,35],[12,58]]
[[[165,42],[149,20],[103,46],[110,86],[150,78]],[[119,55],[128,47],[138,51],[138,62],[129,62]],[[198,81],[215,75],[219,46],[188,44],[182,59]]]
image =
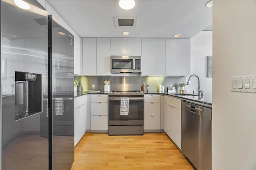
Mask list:
[[256,75],[256,1],[213,1],[212,170],[256,169],[256,94],[230,77]]

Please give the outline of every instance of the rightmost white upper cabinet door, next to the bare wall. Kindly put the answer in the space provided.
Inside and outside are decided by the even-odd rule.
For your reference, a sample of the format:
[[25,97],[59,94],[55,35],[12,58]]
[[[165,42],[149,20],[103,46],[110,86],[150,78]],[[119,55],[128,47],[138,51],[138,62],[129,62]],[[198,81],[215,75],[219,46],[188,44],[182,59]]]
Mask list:
[[166,76],[190,75],[190,39],[166,39]]

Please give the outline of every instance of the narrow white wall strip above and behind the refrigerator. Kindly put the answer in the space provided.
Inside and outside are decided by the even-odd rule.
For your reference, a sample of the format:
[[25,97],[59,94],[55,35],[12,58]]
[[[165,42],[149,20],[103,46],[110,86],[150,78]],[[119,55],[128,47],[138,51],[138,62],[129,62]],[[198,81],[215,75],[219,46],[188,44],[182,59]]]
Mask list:
[[47,2],[47,0],[37,0],[44,8],[48,11],[48,15],[54,16],[56,20],[58,20],[63,27],[65,27],[70,33],[74,35],[74,72],[75,74],[80,74],[80,64],[82,63],[80,61],[80,37],[77,35],[77,33],[70,27],[68,23],[66,23],[65,20],[62,19],[62,17],[50,6],[50,4]]

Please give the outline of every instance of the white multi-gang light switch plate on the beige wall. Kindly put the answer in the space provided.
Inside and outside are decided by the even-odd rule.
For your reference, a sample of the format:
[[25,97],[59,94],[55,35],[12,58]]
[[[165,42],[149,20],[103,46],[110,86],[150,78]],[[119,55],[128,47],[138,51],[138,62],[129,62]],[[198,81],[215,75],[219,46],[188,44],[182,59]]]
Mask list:
[[256,76],[241,76],[230,78],[231,92],[256,93]]

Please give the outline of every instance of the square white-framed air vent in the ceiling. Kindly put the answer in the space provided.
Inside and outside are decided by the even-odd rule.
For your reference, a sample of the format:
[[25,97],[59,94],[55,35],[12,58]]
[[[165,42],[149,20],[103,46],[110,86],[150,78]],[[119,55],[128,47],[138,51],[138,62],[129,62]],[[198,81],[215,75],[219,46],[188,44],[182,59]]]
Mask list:
[[136,27],[138,17],[114,17],[116,27]]

